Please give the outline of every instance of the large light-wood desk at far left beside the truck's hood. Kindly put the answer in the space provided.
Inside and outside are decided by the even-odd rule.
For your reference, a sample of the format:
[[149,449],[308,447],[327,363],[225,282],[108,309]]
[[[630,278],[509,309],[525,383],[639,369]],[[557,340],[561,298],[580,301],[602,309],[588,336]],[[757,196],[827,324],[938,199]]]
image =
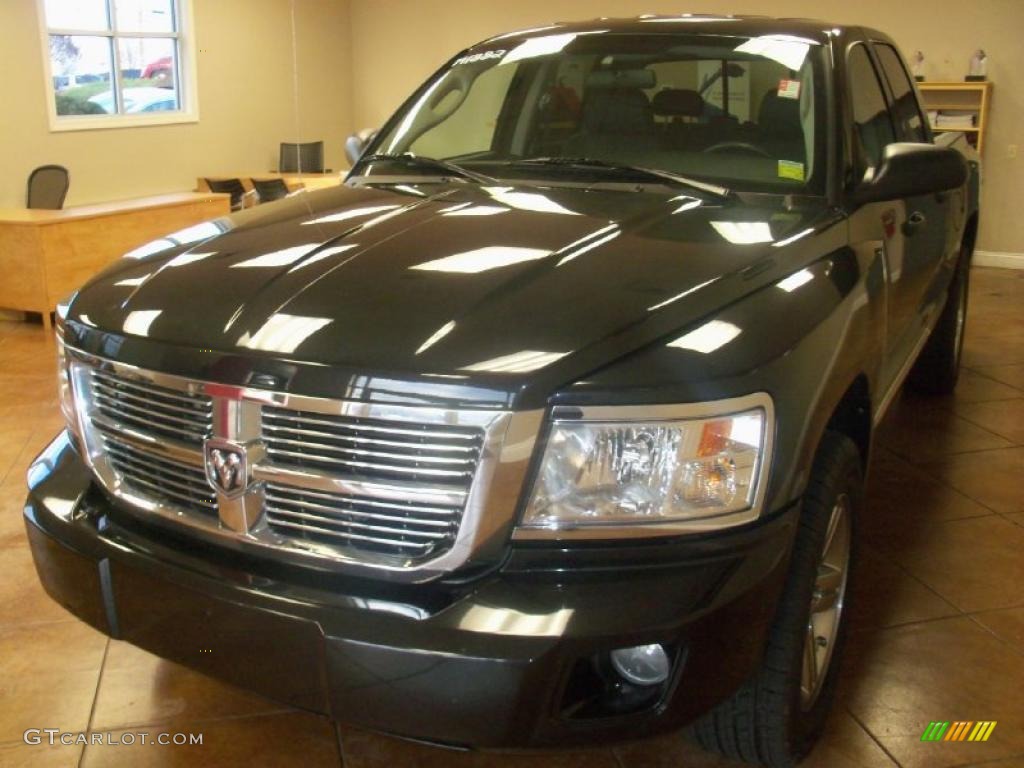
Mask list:
[[0,308],[40,312],[125,253],[230,213],[230,196],[178,193],[62,211],[0,209]]

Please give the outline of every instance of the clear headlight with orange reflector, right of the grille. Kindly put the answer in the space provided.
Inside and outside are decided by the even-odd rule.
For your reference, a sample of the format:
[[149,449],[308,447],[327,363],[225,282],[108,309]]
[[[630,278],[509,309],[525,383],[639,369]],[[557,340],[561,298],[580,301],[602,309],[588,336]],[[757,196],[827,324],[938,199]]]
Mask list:
[[761,512],[764,393],[682,406],[556,409],[517,538],[657,536]]

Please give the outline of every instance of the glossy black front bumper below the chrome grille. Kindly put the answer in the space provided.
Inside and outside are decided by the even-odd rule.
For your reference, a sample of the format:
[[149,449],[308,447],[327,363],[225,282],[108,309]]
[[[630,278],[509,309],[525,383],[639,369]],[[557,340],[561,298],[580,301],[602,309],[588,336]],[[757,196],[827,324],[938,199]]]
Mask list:
[[[517,547],[486,574],[414,586],[248,559],[138,523],[66,434],[29,483],[40,580],[101,632],[340,721],[492,749],[637,738],[726,697],[761,659],[797,514],[674,542]],[[632,711],[587,705],[592,659],[651,642],[673,649],[664,691]]]

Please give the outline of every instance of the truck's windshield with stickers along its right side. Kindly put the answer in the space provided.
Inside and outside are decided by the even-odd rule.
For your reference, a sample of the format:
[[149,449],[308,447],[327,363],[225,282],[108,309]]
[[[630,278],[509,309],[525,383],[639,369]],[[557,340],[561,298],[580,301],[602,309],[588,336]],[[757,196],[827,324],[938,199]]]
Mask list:
[[381,156],[412,154],[496,178],[600,177],[631,166],[819,194],[822,58],[814,41],[778,35],[498,39],[450,62],[404,104],[374,142],[367,172],[393,174]]

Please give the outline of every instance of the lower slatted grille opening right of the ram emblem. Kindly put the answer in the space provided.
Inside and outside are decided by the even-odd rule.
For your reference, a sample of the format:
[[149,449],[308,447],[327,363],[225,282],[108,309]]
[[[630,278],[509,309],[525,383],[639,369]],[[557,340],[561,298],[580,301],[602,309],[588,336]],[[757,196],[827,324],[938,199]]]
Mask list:
[[268,483],[266,521],[285,536],[422,558],[450,549],[462,509],[325,494]]

